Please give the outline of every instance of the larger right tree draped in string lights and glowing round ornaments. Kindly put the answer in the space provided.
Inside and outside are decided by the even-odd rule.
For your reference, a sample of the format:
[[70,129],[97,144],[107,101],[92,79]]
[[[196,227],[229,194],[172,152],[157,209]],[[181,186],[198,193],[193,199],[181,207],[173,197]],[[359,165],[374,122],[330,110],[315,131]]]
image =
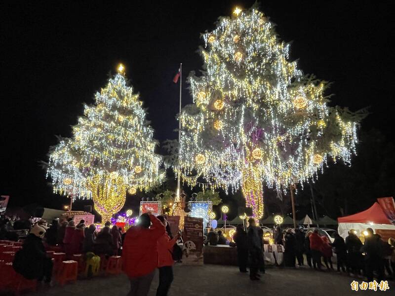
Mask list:
[[241,187],[259,219],[263,184],[286,190],[314,178],[329,158],[350,163],[356,114],[327,105],[327,83],[289,60],[289,44],[263,13],[236,9],[202,37],[205,72],[190,75],[194,104],[181,112],[176,168],[184,182]]

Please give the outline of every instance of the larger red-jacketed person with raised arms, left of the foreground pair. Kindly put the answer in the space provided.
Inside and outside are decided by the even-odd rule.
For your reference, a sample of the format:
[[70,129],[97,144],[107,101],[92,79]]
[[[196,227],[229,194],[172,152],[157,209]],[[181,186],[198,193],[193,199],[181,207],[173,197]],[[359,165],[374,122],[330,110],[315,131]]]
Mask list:
[[151,213],[141,215],[138,225],[127,230],[122,246],[122,268],[130,281],[128,296],[148,294],[158,267],[158,239],[165,231],[164,225]]

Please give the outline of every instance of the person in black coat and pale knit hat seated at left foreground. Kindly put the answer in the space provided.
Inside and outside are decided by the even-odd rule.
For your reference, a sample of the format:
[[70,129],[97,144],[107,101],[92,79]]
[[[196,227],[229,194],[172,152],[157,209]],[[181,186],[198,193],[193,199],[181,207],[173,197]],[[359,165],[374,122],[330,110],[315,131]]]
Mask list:
[[53,263],[47,257],[42,243],[45,229],[36,224],[26,237],[22,249],[14,257],[13,268],[23,277],[50,283],[52,279]]

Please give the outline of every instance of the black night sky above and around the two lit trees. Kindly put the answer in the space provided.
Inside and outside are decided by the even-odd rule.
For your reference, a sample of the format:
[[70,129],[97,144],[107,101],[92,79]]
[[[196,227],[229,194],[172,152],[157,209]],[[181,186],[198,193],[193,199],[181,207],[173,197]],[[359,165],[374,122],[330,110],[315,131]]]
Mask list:
[[[0,193],[11,206],[67,203],[52,193],[39,161],[55,135],[71,136],[83,103],[107,83],[119,62],[148,108],[155,138],[173,139],[183,63],[201,69],[200,33],[221,15],[254,1],[1,1]],[[334,82],[332,105],[370,106],[362,129],[392,136],[394,49],[391,1],[264,0],[279,37],[292,41],[291,59],[305,74]],[[103,4],[102,4],[103,3]],[[329,93],[328,93],[329,94]]]

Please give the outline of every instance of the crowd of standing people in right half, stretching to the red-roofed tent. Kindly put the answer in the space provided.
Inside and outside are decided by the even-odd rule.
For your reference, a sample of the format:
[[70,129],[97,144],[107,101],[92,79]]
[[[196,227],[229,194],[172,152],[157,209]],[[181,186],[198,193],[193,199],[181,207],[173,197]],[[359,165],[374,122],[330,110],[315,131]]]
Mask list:
[[[262,232],[257,233],[262,230],[253,219],[248,222],[247,231],[244,231],[243,226],[238,226],[234,236],[237,259],[240,272],[247,272],[249,264],[250,279],[258,280],[258,269],[265,270]],[[366,231],[363,244],[353,229],[345,240],[335,233],[334,241],[331,242],[326,235],[319,235],[317,228],[304,233],[302,227],[282,231],[277,225],[273,238],[276,245],[284,247],[283,263],[286,267],[303,266],[306,258],[310,268],[334,270],[332,257],[335,253],[338,272],[364,276],[368,281],[372,281],[374,276],[379,282],[384,278],[395,278],[395,239],[390,238],[385,242],[372,228]],[[326,269],[323,269],[323,264]]]

